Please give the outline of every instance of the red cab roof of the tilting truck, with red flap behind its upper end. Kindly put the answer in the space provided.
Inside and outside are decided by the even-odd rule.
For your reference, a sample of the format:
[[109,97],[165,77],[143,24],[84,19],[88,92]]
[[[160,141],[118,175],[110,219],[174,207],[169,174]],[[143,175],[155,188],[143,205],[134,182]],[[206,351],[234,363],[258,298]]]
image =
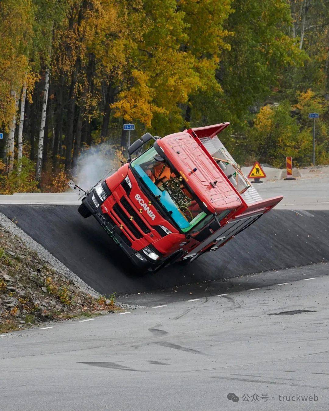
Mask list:
[[169,134],[157,145],[206,208],[214,213],[239,208],[244,202],[199,138],[214,137],[229,122]]

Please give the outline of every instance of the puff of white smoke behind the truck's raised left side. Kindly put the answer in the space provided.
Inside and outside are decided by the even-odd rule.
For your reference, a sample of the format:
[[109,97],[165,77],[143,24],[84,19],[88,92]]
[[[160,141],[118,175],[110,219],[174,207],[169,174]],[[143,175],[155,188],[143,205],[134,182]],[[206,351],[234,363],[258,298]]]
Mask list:
[[113,163],[116,160],[115,148],[108,142],[93,145],[81,152],[74,169],[74,182],[88,190],[93,187],[106,173],[114,171]]

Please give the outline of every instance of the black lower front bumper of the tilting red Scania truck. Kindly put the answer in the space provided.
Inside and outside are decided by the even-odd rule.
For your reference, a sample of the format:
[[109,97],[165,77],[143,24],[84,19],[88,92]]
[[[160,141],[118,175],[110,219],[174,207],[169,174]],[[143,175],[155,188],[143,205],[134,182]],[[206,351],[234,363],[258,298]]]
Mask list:
[[[134,264],[134,266],[139,267],[141,270],[150,270],[153,271],[159,264],[162,263],[161,259],[157,261],[150,261],[143,252],[138,252],[129,245],[125,243],[123,240],[123,232],[120,228],[109,222],[109,220],[105,217],[105,214],[102,212],[102,206],[96,208],[95,203],[93,202],[92,197],[95,196],[97,201],[100,202],[97,195],[95,195],[94,190],[86,196],[82,202],[88,208],[88,210],[92,213],[95,219],[100,223],[103,229],[109,234],[109,236],[114,240],[114,242],[123,250],[123,252],[128,256],[130,262]],[[137,254],[143,257],[141,260]]]

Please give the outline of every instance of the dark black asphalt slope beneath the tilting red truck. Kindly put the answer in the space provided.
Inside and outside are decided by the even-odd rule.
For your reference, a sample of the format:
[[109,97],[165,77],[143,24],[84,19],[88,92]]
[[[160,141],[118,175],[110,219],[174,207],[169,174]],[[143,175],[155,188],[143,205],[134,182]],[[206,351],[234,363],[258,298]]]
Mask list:
[[73,205],[1,205],[0,211],[96,291],[109,295],[237,277],[329,261],[329,211],[273,210],[190,266],[138,276],[93,217]]

